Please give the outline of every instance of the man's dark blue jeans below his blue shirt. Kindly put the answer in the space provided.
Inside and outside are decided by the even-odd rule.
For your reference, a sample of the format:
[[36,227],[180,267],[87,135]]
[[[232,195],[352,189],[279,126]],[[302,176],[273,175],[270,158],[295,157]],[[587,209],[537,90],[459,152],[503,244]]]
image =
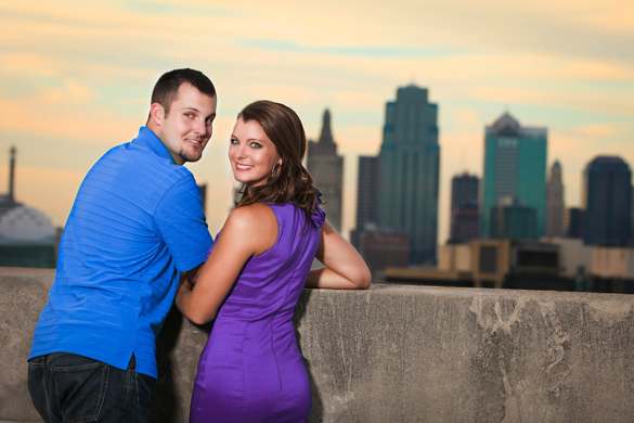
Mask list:
[[148,422],[156,380],[91,358],[54,352],[28,361],[28,390],[47,423]]

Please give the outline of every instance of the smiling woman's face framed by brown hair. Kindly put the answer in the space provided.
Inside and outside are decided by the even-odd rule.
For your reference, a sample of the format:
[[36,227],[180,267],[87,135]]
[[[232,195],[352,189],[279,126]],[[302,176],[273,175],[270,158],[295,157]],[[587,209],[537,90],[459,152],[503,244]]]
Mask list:
[[275,144],[256,120],[237,119],[231,134],[229,161],[233,177],[248,187],[258,187],[271,176],[273,166],[282,164]]

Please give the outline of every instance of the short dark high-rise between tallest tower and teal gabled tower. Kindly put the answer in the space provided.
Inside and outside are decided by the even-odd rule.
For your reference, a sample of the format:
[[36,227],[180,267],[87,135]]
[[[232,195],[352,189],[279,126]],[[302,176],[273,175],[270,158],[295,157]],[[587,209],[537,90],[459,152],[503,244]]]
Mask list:
[[480,238],[479,185],[480,179],[466,172],[451,180],[450,243]]

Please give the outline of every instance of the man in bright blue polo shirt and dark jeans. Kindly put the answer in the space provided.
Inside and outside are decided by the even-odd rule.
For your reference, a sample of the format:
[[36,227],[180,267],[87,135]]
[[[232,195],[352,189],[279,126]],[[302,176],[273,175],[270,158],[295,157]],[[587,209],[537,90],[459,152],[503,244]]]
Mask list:
[[196,272],[212,242],[182,165],[200,158],[216,102],[200,72],[163,75],[139,136],[81,183],[29,356],[29,390],[46,422],[148,421],[156,336],[179,271]]

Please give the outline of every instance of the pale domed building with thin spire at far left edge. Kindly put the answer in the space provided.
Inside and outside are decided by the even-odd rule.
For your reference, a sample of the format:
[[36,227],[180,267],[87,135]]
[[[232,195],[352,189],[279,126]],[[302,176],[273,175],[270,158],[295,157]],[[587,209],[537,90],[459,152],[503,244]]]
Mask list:
[[55,229],[43,213],[15,200],[15,154],[12,146],[9,192],[0,194],[0,266],[53,268]]

